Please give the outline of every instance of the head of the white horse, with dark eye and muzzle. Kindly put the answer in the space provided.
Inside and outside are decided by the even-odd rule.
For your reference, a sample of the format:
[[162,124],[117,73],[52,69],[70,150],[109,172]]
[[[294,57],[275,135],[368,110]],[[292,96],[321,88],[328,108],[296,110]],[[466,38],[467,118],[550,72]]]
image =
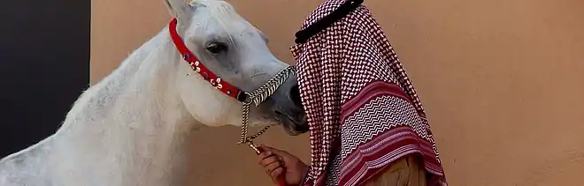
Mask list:
[[[273,56],[265,35],[227,2],[165,0],[165,4],[176,19],[176,28],[169,29],[176,29],[184,46],[196,56],[196,65],[202,63],[208,71],[220,77],[211,79],[210,83],[210,79],[204,77],[206,74],[196,73],[200,69],[194,66],[194,62],[185,63],[184,56],[177,58],[181,60],[177,68],[177,83],[185,108],[204,125],[241,126],[242,102],[218,91],[216,81],[228,82],[250,93],[289,65]],[[308,130],[294,75],[265,102],[250,110],[250,126],[279,123],[290,135]]]

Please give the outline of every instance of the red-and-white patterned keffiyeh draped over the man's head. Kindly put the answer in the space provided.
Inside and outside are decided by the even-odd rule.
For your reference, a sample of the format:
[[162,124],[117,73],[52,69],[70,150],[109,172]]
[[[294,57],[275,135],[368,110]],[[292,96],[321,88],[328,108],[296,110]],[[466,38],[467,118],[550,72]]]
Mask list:
[[[320,4],[302,30],[343,3]],[[368,8],[358,5],[324,30],[296,36],[291,50],[311,142],[304,185],[361,185],[411,154],[424,161],[428,185],[447,185],[418,94]]]

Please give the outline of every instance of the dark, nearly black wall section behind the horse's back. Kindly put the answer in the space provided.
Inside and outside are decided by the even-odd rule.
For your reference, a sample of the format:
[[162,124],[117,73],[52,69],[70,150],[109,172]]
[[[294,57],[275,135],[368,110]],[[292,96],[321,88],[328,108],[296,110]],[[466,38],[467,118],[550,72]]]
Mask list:
[[53,134],[89,82],[90,1],[0,6],[0,157]]

